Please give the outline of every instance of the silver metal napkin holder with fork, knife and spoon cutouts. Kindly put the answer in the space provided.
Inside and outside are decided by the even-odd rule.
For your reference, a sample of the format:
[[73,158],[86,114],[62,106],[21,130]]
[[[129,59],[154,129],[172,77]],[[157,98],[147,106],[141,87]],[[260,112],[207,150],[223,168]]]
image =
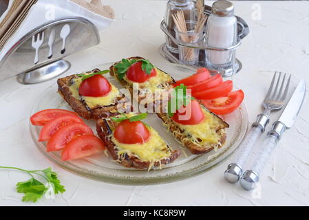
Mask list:
[[0,62],[0,80],[16,76],[21,84],[41,83],[70,69],[65,56],[98,45],[94,24],[82,17],[45,23],[23,36]]

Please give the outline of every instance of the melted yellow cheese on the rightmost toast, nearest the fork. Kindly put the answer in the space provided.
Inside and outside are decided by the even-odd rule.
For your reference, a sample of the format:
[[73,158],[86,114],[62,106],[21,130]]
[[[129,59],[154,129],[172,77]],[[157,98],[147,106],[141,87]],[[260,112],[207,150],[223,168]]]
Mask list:
[[220,133],[216,132],[222,125],[220,118],[215,117],[215,115],[205,109],[202,109],[202,111],[205,117],[200,124],[179,124],[175,121],[173,123],[177,124],[184,131],[184,135],[186,136],[184,140],[190,140],[199,146],[209,144],[220,146],[221,132],[224,132],[224,129]]

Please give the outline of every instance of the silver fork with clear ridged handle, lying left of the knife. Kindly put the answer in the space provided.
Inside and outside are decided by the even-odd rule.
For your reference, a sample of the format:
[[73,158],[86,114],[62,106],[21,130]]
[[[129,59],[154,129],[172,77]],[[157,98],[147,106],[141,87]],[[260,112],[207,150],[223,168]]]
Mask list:
[[288,87],[290,85],[290,76],[288,77],[288,82],[285,83],[286,76],[288,76],[288,74],[284,74],[284,77],[281,80],[282,75],[283,74],[281,72],[275,72],[268,92],[264,98],[263,113],[257,115],[257,120],[255,120],[252,124],[251,131],[249,131],[244,141],[237,149],[235,162],[228,164],[228,168],[224,172],[224,178],[232,184],[239,181],[239,178],[242,176],[242,166],[244,166],[246,158],[257,142],[257,139],[262,135],[262,133],[264,133],[265,127],[269,122],[270,112],[273,110],[279,110],[284,106],[284,101],[286,100]]

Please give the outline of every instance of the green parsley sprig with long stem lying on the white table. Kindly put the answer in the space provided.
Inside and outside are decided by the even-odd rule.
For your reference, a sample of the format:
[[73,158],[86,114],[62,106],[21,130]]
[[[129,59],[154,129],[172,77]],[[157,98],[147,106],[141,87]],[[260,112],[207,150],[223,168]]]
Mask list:
[[[47,168],[45,170],[24,170],[22,168],[11,166],[0,166],[0,168],[20,170],[30,175],[30,179],[27,181],[21,181],[16,185],[17,192],[25,194],[22,201],[38,201],[48,190],[50,190],[49,186],[52,186],[54,194],[65,192],[65,187],[61,185],[57,173],[53,172],[52,168]],[[44,179],[46,184],[43,184],[36,179],[34,177],[35,175]]]

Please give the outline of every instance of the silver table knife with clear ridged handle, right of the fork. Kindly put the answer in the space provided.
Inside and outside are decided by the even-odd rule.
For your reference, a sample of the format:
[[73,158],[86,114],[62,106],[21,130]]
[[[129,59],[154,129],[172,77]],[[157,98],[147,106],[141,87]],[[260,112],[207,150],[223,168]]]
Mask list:
[[277,146],[277,142],[280,140],[281,135],[294,124],[301,109],[301,105],[303,104],[305,94],[306,84],[305,81],[301,79],[286,105],[286,108],[281,113],[279,120],[273,123],[272,129],[268,132],[262,148],[260,148],[259,153],[257,153],[257,158],[254,160],[253,166],[242,175],[240,185],[245,190],[252,190],[256,187],[262,168],[275,146]]

